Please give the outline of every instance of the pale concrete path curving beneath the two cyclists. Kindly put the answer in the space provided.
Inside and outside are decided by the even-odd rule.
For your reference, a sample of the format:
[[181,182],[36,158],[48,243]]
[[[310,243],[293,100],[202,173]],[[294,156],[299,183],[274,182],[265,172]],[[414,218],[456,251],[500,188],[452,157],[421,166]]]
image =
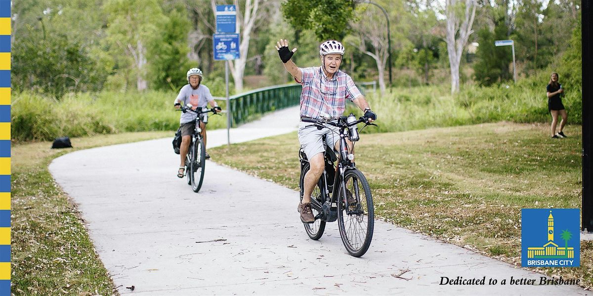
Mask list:
[[[298,108],[289,108],[233,129],[231,140],[288,133],[297,124]],[[210,147],[226,141],[226,130],[208,132]],[[81,150],[49,167],[82,211],[121,294],[587,294],[576,286],[511,285],[511,278],[538,284],[542,275],[381,221],[366,255],[353,258],[337,223],[320,240],[308,239],[298,192],[209,161],[196,194],[176,177],[177,163],[171,139],[161,139]],[[439,285],[443,276],[485,282]]]

